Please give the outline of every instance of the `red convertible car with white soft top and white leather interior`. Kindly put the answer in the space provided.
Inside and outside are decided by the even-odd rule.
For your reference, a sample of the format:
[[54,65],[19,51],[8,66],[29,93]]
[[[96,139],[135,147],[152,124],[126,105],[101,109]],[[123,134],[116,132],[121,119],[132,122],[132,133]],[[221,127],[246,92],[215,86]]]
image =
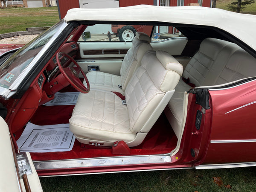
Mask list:
[[[151,35],[87,30],[111,24]],[[1,180],[256,166],[255,31],[255,15],[204,7],[69,10],[0,57],[1,168],[17,168]]]

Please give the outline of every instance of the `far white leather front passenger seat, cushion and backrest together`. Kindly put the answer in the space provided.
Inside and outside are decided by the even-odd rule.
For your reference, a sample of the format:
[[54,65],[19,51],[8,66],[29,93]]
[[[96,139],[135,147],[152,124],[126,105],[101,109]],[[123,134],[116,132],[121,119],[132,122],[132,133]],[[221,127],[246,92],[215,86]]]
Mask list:
[[[143,32],[136,32],[132,46],[122,62],[120,76],[100,71],[91,71],[86,74],[90,87],[92,89],[96,88],[123,93],[134,71],[140,66],[145,52],[152,50],[150,42],[151,39],[148,35]],[[118,85],[121,85],[122,89]]]

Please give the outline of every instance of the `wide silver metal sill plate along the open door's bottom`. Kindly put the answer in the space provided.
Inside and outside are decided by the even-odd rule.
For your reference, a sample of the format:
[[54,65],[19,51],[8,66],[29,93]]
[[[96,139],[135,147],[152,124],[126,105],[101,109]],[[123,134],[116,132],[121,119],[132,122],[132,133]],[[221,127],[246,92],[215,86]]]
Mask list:
[[73,160],[34,161],[34,166],[36,170],[44,170],[169,162],[171,162],[170,155],[161,154],[144,156],[87,158]]

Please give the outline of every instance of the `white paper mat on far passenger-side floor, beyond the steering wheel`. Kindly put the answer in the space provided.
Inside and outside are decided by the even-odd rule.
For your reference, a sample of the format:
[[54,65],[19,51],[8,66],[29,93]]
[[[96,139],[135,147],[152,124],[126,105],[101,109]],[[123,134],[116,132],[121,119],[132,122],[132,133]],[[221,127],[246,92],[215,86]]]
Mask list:
[[46,106],[52,105],[76,105],[77,98],[80,92],[57,92],[54,95],[54,99],[45,103]]

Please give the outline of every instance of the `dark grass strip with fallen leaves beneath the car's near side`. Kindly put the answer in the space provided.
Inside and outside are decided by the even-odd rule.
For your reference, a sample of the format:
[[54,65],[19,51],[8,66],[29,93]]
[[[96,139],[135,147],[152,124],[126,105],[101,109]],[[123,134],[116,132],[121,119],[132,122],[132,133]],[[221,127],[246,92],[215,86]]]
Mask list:
[[[256,167],[41,177],[44,192],[255,192]],[[212,177],[221,177],[218,186]],[[225,186],[230,185],[232,189]]]

